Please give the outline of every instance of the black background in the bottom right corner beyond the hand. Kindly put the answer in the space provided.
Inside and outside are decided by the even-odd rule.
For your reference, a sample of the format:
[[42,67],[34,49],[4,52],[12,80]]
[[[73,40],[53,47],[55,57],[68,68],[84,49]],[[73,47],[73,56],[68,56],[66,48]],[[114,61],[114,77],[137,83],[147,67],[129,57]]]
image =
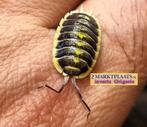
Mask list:
[[147,127],[147,86],[122,127]]

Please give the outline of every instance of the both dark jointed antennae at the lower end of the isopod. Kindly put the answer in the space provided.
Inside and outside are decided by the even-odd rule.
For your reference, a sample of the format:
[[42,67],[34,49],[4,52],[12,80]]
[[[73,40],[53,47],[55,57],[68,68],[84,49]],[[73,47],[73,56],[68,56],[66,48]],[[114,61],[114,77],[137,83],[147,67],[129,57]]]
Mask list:
[[[45,85],[45,87],[47,87],[47,88],[53,90],[53,91],[56,92],[56,93],[60,93],[60,92],[64,89],[64,87],[66,86],[66,84],[68,83],[69,79],[70,79],[69,76],[64,76],[64,82],[63,82],[63,84],[61,85],[61,87],[60,87],[58,90],[56,90],[56,89],[54,89],[54,88],[52,88],[52,87],[50,87],[50,86],[48,86],[48,85]],[[85,107],[86,107],[87,110],[88,110],[88,114],[87,114],[87,119],[88,119],[88,117],[89,117],[89,115],[90,115],[90,112],[91,112],[90,107],[89,107],[89,106],[87,105],[87,103],[84,101],[84,99],[83,99],[83,97],[82,97],[82,94],[81,94],[81,91],[80,91],[80,88],[78,87],[78,85],[77,85],[77,83],[76,83],[76,79],[75,79],[75,78],[71,78],[71,82],[72,82],[72,85],[74,86],[74,88],[75,88],[77,94],[79,95],[79,98],[81,99],[81,101],[83,102],[83,104],[85,105]]]

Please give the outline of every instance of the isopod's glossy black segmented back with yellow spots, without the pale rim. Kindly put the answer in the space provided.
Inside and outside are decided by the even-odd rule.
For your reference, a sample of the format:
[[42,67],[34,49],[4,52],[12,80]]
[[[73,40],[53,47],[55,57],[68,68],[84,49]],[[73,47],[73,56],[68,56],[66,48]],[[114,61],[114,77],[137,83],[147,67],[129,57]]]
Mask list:
[[98,25],[85,13],[71,13],[57,39],[56,58],[64,73],[79,76],[91,68],[98,43]]

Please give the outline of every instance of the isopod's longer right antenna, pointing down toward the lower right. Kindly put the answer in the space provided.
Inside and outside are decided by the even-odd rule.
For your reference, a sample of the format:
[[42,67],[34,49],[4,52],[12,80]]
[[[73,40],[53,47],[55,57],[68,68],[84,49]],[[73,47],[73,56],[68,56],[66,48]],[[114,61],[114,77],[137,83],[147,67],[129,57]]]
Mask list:
[[80,89],[79,89],[79,87],[78,87],[78,85],[77,85],[77,83],[76,83],[75,78],[72,78],[71,81],[72,81],[72,84],[73,84],[73,86],[75,87],[75,89],[76,89],[76,91],[77,91],[77,93],[78,93],[78,95],[79,95],[81,101],[83,102],[83,104],[85,105],[85,107],[86,107],[87,110],[88,110],[88,114],[87,114],[87,119],[88,119],[88,117],[89,117],[89,115],[90,115],[90,112],[91,112],[91,109],[90,109],[89,106],[86,104],[86,102],[83,100],[83,97],[82,97],[82,95],[81,95],[81,91],[80,91]]

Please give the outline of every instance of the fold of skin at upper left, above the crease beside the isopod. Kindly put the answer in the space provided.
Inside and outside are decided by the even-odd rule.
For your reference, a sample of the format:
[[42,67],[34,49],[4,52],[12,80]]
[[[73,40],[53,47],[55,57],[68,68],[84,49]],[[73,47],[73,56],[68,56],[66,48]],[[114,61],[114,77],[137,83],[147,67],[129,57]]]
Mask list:
[[13,16],[25,22],[55,27],[61,17],[74,9],[82,0],[13,0],[1,1],[3,16]]

